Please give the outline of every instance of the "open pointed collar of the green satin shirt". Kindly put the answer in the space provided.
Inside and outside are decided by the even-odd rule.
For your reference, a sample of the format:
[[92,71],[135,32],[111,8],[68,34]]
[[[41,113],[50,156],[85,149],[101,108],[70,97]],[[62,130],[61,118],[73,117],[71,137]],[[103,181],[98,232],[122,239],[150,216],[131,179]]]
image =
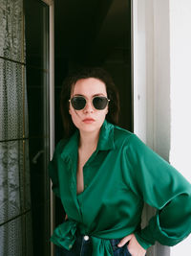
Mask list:
[[[74,135],[69,139],[68,143],[64,147],[64,151],[62,151],[61,156],[63,159],[65,158],[73,158],[73,156],[77,152],[79,141],[79,131],[76,129]],[[114,150],[114,125],[108,123],[106,120],[104,121],[100,133],[96,151],[108,151]]]

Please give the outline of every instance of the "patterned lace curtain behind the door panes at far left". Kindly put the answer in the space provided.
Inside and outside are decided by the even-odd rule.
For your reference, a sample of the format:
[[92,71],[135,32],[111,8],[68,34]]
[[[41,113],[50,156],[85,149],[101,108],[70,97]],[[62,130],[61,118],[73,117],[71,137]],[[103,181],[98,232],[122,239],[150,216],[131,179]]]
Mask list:
[[32,255],[23,0],[0,0],[0,255]]

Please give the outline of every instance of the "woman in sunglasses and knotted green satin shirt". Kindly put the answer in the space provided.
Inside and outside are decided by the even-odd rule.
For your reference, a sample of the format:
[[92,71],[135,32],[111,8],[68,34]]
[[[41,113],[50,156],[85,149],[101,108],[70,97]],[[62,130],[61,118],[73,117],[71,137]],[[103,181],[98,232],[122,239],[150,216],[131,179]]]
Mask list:
[[[64,135],[50,176],[65,221],[51,241],[57,255],[144,256],[191,232],[191,185],[138,137],[117,127],[118,94],[100,68],[69,77],[61,93]],[[157,209],[141,229],[146,202]]]

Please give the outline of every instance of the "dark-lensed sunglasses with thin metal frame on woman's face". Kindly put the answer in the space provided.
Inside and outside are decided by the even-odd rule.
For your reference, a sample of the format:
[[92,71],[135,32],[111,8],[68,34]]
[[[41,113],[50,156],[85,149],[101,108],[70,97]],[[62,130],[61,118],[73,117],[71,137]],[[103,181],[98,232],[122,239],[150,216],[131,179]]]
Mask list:
[[[97,110],[102,110],[108,105],[109,101],[107,97],[96,96],[92,99],[92,104]],[[75,110],[81,110],[85,107],[87,100],[83,96],[74,96],[69,102],[73,105]]]

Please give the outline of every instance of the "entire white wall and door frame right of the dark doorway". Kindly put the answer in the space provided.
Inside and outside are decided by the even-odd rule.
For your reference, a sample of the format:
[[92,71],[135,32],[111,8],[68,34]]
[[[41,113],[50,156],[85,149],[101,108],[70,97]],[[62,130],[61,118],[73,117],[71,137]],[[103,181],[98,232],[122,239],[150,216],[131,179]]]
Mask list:
[[[132,0],[134,131],[191,180],[191,1]],[[146,208],[144,223],[153,212]],[[189,256],[191,239],[148,255]]]

